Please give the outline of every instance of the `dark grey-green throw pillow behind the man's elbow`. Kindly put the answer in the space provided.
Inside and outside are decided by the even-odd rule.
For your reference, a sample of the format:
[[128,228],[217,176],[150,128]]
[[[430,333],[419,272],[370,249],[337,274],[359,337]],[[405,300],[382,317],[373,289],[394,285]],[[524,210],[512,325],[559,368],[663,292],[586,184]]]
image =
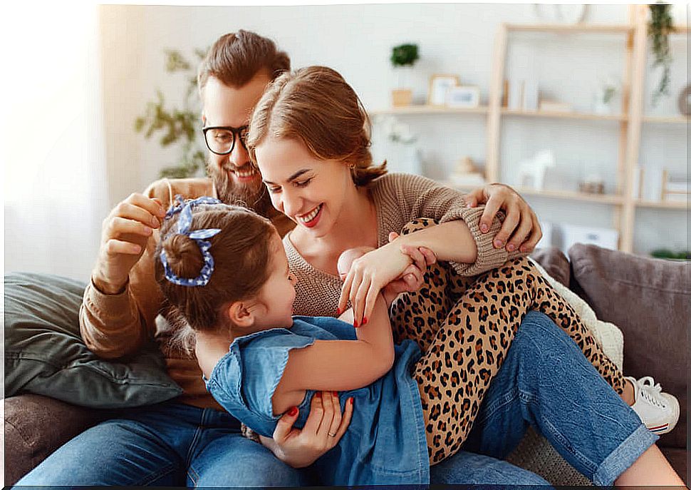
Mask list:
[[84,344],[79,307],[85,284],[46,274],[5,275],[5,396],[43,394],[93,408],[137,407],[177,397],[151,344],[106,361]]

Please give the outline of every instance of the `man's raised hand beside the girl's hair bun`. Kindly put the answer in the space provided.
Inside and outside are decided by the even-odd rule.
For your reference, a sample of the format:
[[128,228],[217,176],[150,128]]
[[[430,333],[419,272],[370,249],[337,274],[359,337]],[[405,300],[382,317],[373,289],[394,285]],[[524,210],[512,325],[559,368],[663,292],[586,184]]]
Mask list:
[[159,228],[165,210],[158,199],[132,194],[110,211],[101,230],[100,250],[92,272],[100,292],[122,292],[130,270],[142,257],[154,228]]

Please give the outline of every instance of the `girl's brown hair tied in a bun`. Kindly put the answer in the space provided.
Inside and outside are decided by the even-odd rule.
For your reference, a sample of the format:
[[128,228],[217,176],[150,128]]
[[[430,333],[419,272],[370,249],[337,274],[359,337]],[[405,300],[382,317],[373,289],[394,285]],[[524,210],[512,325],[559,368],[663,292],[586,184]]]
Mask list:
[[[204,286],[182,286],[170,282],[160,260],[165,250],[168,265],[177,277],[199,276],[204,260],[196,241],[175,233],[180,213],[167,218],[161,227],[156,249],[155,275],[173,315],[172,344],[189,351],[194,347],[194,332],[220,332],[232,327],[222,315],[224,305],[256,295],[268,280],[271,263],[271,221],[237,205],[196,205],[192,208],[189,230],[219,228],[207,240],[214,259],[214,270]],[[191,331],[190,331],[191,330]]]

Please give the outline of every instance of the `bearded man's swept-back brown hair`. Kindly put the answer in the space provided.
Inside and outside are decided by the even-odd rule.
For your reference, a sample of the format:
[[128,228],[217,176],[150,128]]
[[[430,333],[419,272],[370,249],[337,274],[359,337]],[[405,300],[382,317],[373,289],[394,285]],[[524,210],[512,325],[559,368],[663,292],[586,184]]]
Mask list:
[[197,71],[201,92],[209,76],[229,87],[239,88],[264,69],[271,80],[291,68],[288,53],[279,51],[271,39],[251,31],[232,32],[219,37],[204,56]]

